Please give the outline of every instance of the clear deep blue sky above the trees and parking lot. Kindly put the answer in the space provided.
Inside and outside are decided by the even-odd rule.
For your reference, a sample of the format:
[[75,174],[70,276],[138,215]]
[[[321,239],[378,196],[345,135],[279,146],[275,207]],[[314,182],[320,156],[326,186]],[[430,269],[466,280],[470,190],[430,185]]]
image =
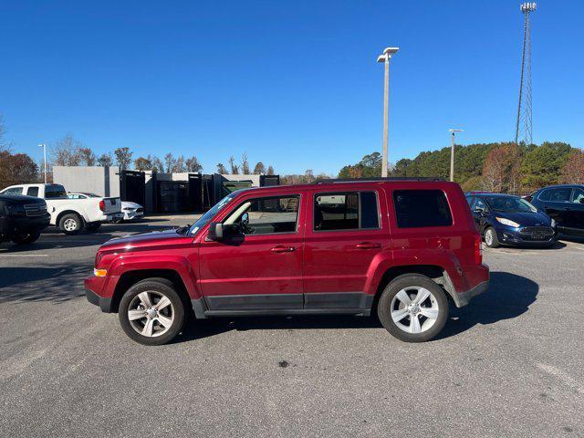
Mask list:
[[[0,2],[0,113],[36,159],[66,133],[94,151],[246,152],[276,172],[336,173],[515,133],[519,1]],[[584,146],[584,2],[537,2],[534,141]]]

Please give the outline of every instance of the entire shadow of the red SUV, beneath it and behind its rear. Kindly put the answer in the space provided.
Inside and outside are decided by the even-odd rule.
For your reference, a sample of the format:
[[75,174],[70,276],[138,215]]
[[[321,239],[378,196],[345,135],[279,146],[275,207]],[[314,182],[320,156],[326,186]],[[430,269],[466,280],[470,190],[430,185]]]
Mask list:
[[[516,318],[536,300],[537,283],[508,272],[492,272],[491,284],[485,294],[474,297],[464,308],[451,306],[450,318],[436,339],[450,338],[475,325],[489,325],[503,319]],[[322,328],[382,328],[376,316],[309,315],[292,317],[209,318],[188,324],[174,342],[185,342],[219,335],[231,330],[322,329]],[[388,335],[389,336],[389,335]]]

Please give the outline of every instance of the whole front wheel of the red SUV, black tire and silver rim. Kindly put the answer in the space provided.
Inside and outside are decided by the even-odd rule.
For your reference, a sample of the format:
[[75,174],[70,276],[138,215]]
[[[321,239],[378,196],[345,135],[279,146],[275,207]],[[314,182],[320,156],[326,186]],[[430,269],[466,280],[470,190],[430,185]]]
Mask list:
[[162,345],[179,334],[184,324],[184,305],[172,282],[147,278],[121,297],[121,328],[143,345]]

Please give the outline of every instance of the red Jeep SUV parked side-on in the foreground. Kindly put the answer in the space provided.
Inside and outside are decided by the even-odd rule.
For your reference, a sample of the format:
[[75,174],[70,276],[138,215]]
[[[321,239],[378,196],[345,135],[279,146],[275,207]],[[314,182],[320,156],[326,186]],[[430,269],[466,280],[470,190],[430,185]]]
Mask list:
[[488,284],[458,184],[391,179],[240,190],[191,226],[111,239],[85,280],[147,345],[192,316],[333,313],[425,341]]

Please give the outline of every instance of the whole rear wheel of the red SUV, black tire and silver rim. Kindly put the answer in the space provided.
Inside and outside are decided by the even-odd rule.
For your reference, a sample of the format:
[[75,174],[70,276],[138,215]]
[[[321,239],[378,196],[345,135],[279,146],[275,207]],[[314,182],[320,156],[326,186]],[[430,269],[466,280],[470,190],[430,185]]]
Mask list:
[[406,274],[385,287],[377,313],[393,337],[425,342],[442,331],[448,318],[448,299],[443,288],[429,277]]

